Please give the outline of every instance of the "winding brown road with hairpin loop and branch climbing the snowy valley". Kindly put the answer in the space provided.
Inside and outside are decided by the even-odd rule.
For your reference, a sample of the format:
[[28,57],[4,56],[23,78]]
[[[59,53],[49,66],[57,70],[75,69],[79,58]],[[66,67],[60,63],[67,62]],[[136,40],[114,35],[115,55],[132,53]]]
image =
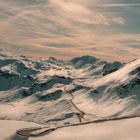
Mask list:
[[[64,88],[64,90],[66,91],[66,87]],[[68,92],[68,91],[66,91]],[[73,105],[73,107],[77,110],[77,113],[75,113],[77,115],[77,117],[79,118],[79,123],[75,123],[75,124],[67,124],[67,125],[61,125],[61,126],[47,126],[47,127],[34,127],[34,128],[23,128],[23,129],[19,129],[16,131],[16,134],[18,136],[24,137],[26,139],[28,139],[29,137],[40,137],[40,136],[44,136],[47,135],[57,129],[60,128],[65,128],[65,127],[71,127],[71,126],[79,126],[79,125],[85,125],[85,124],[90,124],[90,123],[102,123],[102,122],[107,122],[107,121],[117,121],[117,120],[123,120],[123,119],[131,119],[131,118],[137,118],[140,117],[139,115],[136,116],[123,116],[123,117],[110,117],[110,118],[96,118],[95,119],[95,115],[91,114],[94,116],[94,120],[90,120],[90,121],[85,121],[82,122],[82,118],[84,118],[84,116],[86,115],[85,112],[81,111],[73,102],[74,99],[74,95],[72,93],[70,93],[70,95],[72,96],[72,99],[70,100],[70,103]]]

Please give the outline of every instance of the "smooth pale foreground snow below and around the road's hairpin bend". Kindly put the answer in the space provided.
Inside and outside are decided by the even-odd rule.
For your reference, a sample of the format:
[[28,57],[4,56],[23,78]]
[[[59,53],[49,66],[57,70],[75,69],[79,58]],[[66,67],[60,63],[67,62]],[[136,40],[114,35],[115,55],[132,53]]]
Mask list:
[[[88,124],[58,129],[49,135],[29,140],[139,140],[140,119],[128,119],[100,124]],[[39,127],[30,122],[0,121],[1,140],[19,140],[15,138],[16,130],[26,127]],[[15,138],[15,139],[14,139]],[[18,137],[19,138],[19,137]],[[21,137],[20,140],[26,140]]]

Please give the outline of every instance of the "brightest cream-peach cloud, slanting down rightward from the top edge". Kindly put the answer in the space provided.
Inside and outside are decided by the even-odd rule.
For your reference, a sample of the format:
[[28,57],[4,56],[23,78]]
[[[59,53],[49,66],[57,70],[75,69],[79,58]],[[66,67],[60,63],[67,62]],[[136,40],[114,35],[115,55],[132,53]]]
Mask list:
[[90,10],[78,1],[52,0],[50,4],[60,16],[73,22],[105,24],[108,25],[108,19],[103,13],[96,10]]

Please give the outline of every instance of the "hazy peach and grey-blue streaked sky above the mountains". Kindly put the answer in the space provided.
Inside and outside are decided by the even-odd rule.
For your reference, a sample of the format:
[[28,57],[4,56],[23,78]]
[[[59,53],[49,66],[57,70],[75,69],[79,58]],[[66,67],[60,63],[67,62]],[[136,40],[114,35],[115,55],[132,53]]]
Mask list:
[[0,0],[0,49],[71,59],[140,57],[140,0]]

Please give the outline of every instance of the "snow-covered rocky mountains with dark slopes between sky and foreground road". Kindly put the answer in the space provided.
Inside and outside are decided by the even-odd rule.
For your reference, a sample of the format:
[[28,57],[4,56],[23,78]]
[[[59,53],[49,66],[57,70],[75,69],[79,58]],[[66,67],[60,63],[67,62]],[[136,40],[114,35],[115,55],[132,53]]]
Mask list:
[[0,83],[0,119],[55,125],[140,113],[140,59],[64,62],[2,54]]

